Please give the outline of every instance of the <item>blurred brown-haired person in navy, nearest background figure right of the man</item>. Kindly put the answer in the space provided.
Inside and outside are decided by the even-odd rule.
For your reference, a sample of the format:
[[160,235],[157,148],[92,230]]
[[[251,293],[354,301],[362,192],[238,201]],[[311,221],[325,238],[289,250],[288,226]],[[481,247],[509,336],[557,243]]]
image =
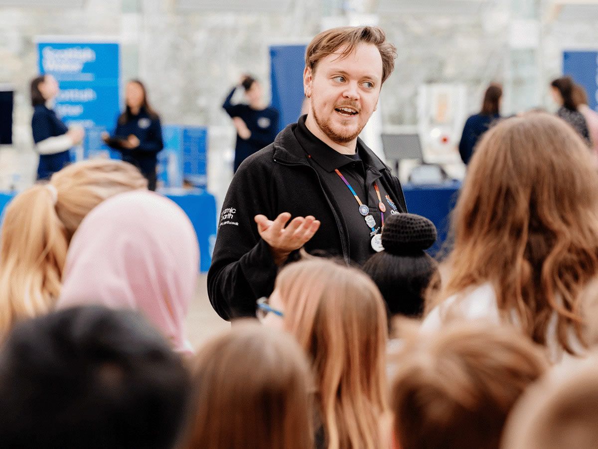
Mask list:
[[468,165],[480,137],[488,131],[496,120],[501,119],[502,86],[492,83],[484,93],[481,111],[470,116],[463,127],[459,142],[459,154],[465,165]]

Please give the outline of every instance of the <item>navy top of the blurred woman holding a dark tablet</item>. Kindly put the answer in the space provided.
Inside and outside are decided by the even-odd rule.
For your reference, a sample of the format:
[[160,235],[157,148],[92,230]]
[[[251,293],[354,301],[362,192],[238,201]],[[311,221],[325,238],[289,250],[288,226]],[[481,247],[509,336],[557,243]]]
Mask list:
[[123,160],[138,167],[144,175],[155,174],[157,154],[164,148],[160,118],[149,116],[145,108],[141,108],[139,114],[132,115],[126,123],[117,122],[115,138],[126,139],[131,134],[139,139],[139,147],[119,149]]

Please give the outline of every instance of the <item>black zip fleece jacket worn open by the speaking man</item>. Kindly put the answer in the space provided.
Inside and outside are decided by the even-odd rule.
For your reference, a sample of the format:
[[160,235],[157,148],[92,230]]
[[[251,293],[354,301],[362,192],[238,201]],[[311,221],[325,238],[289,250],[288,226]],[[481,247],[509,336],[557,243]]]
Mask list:
[[[228,188],[208,272],[210,302],[225,320],[255,317],[255,301],[269,296],[274,289],[278,267],[269,245],[258,233],[254,221],[258,214],[270,220],[283,212],[291,213],[291,219],[312,215],[321,226],[305,249],[324,250],[350,260],[346,221],[337,199],[295,137],[296,126],[287,126],[273,144],[249,156]],[[379,172],[380,190],[389,193],[398,212],[406,212],[399,180],[361,139],[358,147],[365,151],[368,169],[374,174]]]

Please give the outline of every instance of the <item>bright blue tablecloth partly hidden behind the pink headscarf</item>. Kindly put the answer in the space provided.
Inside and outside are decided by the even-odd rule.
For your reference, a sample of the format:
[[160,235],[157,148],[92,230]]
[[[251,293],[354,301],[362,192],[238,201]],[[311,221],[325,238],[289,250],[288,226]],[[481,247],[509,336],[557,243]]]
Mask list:
[[[172,199],[185,211],[197,234],[200,251],[200,271],[207,272],[212,263],[212,251],[216,241],[216,200],[202,189],[163,189],[161,194]],[[0,214],[14,198],[16,192],[0,192]]]

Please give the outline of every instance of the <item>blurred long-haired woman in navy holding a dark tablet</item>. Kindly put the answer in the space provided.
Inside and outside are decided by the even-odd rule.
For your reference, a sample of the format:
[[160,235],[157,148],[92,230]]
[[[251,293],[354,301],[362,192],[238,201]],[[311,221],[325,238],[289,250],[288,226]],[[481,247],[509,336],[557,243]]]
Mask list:
[[155,190],[157,154],[164,148],[160,117],[151,108],[147,91],[139,80],[131,80],[125,89],[126,108],[118,117],[114,136],[103,134],[112,148],[120,151],[125,162],[135,165]]

